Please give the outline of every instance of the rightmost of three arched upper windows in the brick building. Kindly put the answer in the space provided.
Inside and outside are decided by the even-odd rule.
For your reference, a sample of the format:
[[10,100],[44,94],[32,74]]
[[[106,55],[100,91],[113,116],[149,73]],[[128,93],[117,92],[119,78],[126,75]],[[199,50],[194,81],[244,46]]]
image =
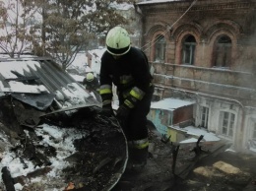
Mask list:
[[231,39],[227,35],[219,37],[214,48],[214,66],[229,67],[231,62]]

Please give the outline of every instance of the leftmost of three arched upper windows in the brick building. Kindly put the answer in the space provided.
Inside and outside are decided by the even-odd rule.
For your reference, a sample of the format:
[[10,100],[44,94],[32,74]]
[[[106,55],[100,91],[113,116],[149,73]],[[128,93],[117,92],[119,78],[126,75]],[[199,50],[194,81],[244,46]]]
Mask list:
[[163,35],[158,35],[155,43],[155,61],[164,61],[166,41]]

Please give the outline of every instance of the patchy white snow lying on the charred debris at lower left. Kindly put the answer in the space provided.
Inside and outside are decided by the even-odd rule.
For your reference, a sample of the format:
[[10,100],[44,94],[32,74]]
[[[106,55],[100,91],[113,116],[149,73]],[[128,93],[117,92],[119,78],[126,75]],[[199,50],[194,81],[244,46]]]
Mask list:
[[[66,128],[59,128],[56,126],[49,126],[46,124],[40,125],[41,128],[36,128],[35,133],[37,136],[42,136],[42,140],[40,141],[40,145],[49,145],[54,148],[58,148],[57,151],[57,156],[56,158],[49,158],[51,165],[49,166],[51,168],[50,172],[47,173],[48,179],[54,177],[57,178],[57,174],[59,171],[61,171],[64,167],[67,167],[70,165],[68,161],[65,161],[64,159],[71,156],[72,154],[75,153],[75,147],[73,145],[73,141],[75,139],[80,139],[83,135],[74,133],[76,129],[66,129]],[[29,132],[25,131],[26,133]],[[65,135],[68,139],[63,139]],[[72,137],[70,135],[76,135],[76,137]],[[81,137],[78,137],[80,135]],[[55,139],[50,139],[50,138],[55,138]],[[7,138],[5,135],[0,134],[0,140],[9,143],[7,141]],[[57,141],[56,141],[57,140]],[[11,147],[14,147],[10,144],[6,144],[5,147],[5,152],[1,154],[1,163],[0,167],[7,166],[11,176],[13,178],[19,177],[19,176],[27,176],[28,173],[33,172],[36,169],[39,169],[43,166],[34,166],[31,160],[29,159],[24,159],[24,163],[27,164],[27,167],[24,166],[24,163],[21,162],[20,158],[17,158],[16,154],[13,152],[10,152],[9,149]],[[45,154],[46,155],[46,154]],[[41,184],[47,183],[47,178],[31,178],[31,182],[40,182]],[[4,188],[3,184],[3,179],[2,176],[0,177],[0,188]],[[20,183],[15,184],[15,190],[16,191],[21,191],[23,190],[24,186],[22,186]],[[58,189],[53,189],[49,191],[57,191]],[[64,187],[63,187],[64,190]]]

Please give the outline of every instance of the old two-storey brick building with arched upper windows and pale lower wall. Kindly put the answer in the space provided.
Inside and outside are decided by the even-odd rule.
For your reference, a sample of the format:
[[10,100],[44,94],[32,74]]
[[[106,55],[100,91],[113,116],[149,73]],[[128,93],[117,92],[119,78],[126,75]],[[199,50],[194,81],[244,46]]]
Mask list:
[[160,0],[136,4],[155,96],[196,101],[195,126],[237,151],[256,152],[256,1]]

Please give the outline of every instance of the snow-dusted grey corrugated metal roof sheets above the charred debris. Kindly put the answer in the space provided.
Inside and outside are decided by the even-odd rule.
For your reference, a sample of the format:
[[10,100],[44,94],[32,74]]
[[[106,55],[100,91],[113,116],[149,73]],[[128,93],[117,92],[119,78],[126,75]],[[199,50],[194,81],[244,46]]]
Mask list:
[[10,94],[37,109],[46,109],[53,100],[53,110],[99,104],[51,59],[2,59],[0,68],[0,93]]

